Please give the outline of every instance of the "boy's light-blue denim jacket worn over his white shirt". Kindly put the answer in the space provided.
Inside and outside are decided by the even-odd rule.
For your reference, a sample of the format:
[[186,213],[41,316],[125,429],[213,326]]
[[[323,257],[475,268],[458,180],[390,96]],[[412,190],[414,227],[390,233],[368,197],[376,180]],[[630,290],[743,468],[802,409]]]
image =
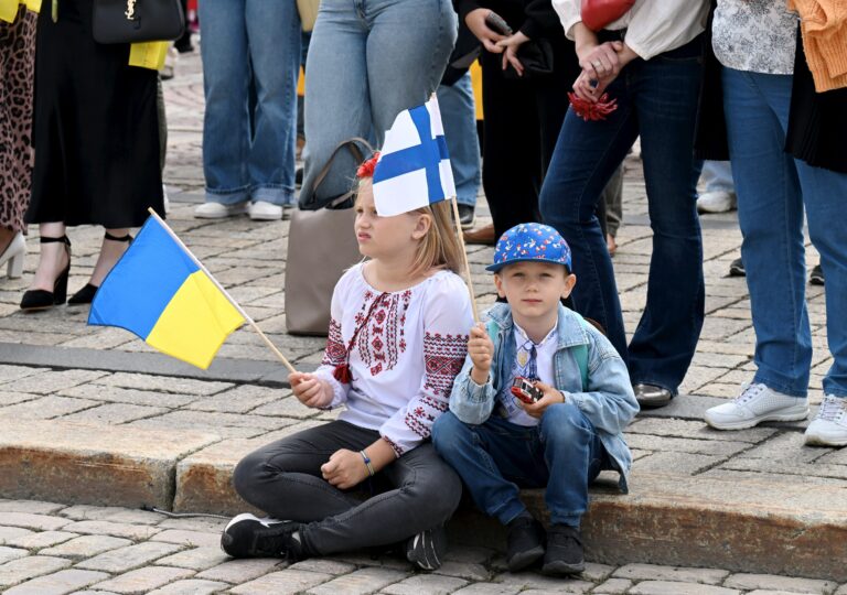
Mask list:
[[[450,394],[450,411],[469,424],[484,423],[494,411],[501,388],[512,382],[515,358],[512,309],[500,303],[487,314],[498,328],[493,339],[494,358],[489,381],[480,386],[471,379],[473,361],[469,356],[455,377]],[[623,430],[639,412],[626,366],[599,331],[562,305],[559,305],[556,332],[558,346],[553,360],[556,388],[593,424],[605,452],[621,474],[619,486],[625,493],[632,453],[623,440]],[[570,349],[576,345],[588,346],[588,390],[585,392],[579,365]]]

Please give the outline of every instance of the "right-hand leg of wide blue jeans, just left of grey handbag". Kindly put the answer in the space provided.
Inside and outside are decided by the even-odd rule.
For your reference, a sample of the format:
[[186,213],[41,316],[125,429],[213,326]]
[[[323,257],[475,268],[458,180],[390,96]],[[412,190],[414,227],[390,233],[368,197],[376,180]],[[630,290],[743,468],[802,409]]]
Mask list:
[[247,163],[250,197],[290,204],[294,201],[300,17],[293,2],[247,0],[245,22],[257,96]]

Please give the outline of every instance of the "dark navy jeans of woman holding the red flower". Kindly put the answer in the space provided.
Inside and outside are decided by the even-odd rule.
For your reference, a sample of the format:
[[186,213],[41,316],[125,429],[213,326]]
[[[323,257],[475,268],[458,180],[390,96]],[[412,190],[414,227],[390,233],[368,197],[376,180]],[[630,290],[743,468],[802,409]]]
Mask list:
[[[696,210],[694,131],[700,39],[626,65],[608,87],[618,109],[585,121],[570,109],[540,194],[542,216],[572,250],[577,311],[603,325],[633,382],[676,392],[704,317],[703,244]],[[646,306],[626,346],[605,239],[594,215],[614,170],[641,136],[653,230]]]

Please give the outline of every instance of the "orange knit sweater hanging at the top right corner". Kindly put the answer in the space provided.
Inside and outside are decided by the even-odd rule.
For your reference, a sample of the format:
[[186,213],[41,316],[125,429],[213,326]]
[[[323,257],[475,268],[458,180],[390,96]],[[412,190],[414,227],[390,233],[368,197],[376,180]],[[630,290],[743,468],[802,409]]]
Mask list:
[[847,87],[847,1],[787,0],[800,13],[803,50],[815,90]]

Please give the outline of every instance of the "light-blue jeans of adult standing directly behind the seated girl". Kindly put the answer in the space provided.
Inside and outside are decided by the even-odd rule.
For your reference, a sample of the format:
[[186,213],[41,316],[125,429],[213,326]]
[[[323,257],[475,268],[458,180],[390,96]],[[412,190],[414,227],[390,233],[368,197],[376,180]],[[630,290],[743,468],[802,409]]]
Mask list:
[[337,144],[364,137],[382,144],[404,109],[438,88],[455,42],[450,0],[324,0],[305,62],[305,148],[300,205],[350,191],[357,163]]

